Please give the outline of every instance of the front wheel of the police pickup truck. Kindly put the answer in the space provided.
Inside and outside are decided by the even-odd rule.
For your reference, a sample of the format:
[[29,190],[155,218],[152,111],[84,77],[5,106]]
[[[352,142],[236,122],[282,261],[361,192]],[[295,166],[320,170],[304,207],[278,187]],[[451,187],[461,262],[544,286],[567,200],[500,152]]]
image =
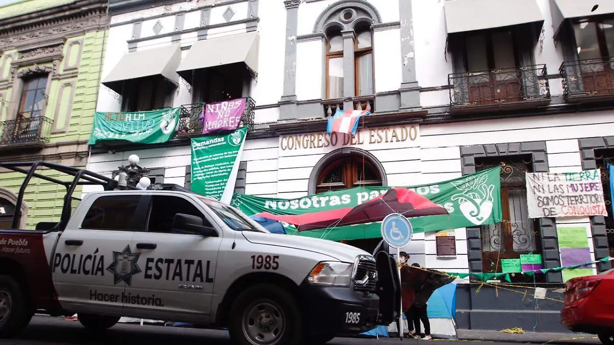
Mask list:
[[289,292],[272,284],[244,290],[230,308],[228,333],[237,345],[300,345],[303,316]]

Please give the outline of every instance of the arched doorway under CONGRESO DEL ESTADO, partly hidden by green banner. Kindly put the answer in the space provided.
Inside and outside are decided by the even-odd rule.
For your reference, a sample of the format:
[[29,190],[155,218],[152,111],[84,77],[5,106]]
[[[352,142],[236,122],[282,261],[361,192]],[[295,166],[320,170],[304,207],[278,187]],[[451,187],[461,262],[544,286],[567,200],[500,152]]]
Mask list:
[[[386,172],[370,153],[359,149],[341,149],[328,153],[314,168],[310,193],[322,193],[355,187],[377,187],[386,184]],[[342,241],[372,253],[380,238]]]

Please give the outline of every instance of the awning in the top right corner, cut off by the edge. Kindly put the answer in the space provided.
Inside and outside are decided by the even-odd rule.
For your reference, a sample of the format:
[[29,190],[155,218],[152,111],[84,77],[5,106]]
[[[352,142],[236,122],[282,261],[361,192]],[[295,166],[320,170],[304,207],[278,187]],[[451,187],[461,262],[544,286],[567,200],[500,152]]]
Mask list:
[[[595,5],[597,5],[597,9],[591,12]],[[565,19],[588,18],[594,15],[612,14],[614,13],[614,1],[550,0],[550,13],[552,14],[554,37],[556,37]]]

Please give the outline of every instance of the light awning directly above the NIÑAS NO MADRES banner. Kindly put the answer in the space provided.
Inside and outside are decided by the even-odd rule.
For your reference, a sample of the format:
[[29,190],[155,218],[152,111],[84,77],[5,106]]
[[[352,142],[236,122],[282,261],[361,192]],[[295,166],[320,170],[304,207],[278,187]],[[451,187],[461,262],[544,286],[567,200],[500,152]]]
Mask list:
[[245,63],[258,72],[258,33],[242,33],[196,41],[181,61],[177,73],[188,82],[195,69]]

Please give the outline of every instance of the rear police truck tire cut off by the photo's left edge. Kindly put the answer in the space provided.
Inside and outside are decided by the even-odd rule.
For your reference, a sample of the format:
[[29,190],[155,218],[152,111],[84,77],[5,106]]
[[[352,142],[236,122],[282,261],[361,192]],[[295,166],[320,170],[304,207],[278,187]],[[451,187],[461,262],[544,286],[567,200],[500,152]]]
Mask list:
[[12,276],[0,275],[0,338],[11,338],[29,324],[33,313]]

